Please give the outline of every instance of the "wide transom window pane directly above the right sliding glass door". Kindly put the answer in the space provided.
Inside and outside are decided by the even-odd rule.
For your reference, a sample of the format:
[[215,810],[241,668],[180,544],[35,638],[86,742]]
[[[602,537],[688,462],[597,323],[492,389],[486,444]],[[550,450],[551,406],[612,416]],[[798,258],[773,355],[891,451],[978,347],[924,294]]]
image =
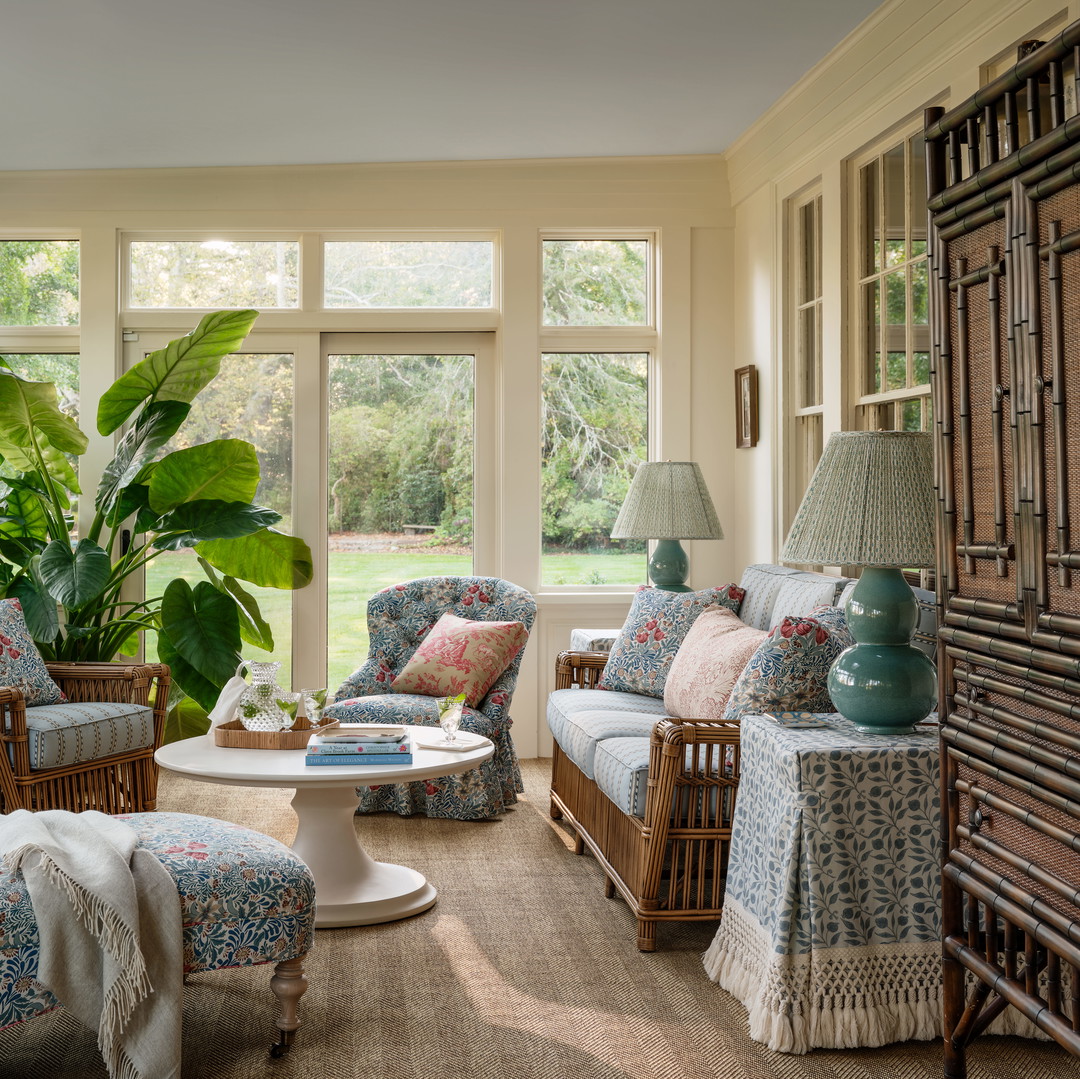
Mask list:
[[487,240],[355,240],[324,245],[328,308],[489,308]]

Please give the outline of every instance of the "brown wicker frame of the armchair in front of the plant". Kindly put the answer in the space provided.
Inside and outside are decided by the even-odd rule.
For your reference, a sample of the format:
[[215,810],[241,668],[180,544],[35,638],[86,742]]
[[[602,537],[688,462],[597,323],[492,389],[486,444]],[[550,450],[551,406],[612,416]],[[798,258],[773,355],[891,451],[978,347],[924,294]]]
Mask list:
[[[146,744],[111,752],[111,745],[90,725],[63,727],[64,714],[50,725],[50,734],[67,734],[66,756],[56,767],[32,767],[30,742],[35,718],[65,705],[38,705],[29,710],[23,693],[0,687],[0,812],[15,809],[67,809],[81,812],[138,813],[157,808],[158,766],[154,750],[161,744],[168,703],[170,671],[163,663],[46,663],[49,674],[64,690],[70,705],[114,702],[140,707]],[[78,707],[69,709],[78,712]],[[129,712],[132,710],[129,709]],[[150,715],[147,715],[147,711]],[[56,715],[57,713],[53,713]],[[108,755],[99,755],[107,753]]]

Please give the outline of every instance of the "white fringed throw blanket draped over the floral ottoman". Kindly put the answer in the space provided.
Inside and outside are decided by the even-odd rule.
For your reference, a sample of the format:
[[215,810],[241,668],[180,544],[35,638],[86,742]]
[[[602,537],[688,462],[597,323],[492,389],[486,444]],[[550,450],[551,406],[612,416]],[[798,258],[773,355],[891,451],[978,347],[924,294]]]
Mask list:
[[0,857],[26,880],[38,981],[91,1029],[112,1079],[177,1079],[179,895],[135,830],[104,813],[0,815]]

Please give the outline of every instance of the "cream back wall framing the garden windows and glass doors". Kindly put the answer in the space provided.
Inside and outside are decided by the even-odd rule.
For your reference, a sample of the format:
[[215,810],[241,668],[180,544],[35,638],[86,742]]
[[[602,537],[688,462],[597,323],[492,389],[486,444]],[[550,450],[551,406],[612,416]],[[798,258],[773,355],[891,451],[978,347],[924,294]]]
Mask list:
[[[119,137],[119,136],[118,136]],[[732,215],[727,178],[716,157],[575,161],[333,165],[265,168],[132,170],[0,173],[0,235],[40,237],[55,230],[81,239],[83,393],[95,399],[121,363],[121,329],[186,333],[190,313],[121,312],[119,245],[130,232],[287,231],[316,239],[349,229],[492,230],[502,251],[501,309],[491,313],[319,311],[318,274],[301,284],[305,309],[265,312],[257,333],[297,356],[298,383],[311,386],[319,335],[341,331],[486,331],[494,334],[496,460],[477,462],[477,483],[492,484],[499,524],[477,571],[532,591],[539,617],[514,701],[514,739],[522,756],[550,753],[543,704],[555,652],[575,625],[618,625],[629,593],[544,592],[539,579],[539,233],[543,229],[654,229],[660,239],[660,394],[653,456],[702,464],[727,539],[690,544],[691,583],[731,580],[741,568],[737,510],[745,485],[735,453],[730,355]],[[311,245],[316,246],[315,244]],[[308,264],[307,268],[311,268]],[[16,342],[17,343],[17,342]],[[36,350],[44,339],[24,342]],[[307,422],[307,420],[305,420]],[[85,424],[87,428],[90,424]],[[312,437],[318,431],[312,430]],[[298,433],[298,437],[299,437]],[[86,460],[107,460],[98,442]],[[312,476],[296,486],[310,490]],[[305,487],[305,480],[308,481]],[[303,497],[303,496],[298,496]],[[313,505],[318,505],[318,497]],[[297,513],[297,530],[315,545]],[[357,604],[366,597],[357,596]],[[312,597],[297,595],[298,625],[320,617]],[[333,632],[333,628],[330,629]],[[313,674],[297,649],[296,684]]]

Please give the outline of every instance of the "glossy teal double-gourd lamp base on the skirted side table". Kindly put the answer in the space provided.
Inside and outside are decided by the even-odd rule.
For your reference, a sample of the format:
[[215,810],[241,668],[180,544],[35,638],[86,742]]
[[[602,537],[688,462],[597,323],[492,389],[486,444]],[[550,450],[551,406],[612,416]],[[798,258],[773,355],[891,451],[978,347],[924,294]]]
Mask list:
[[867,567],[846,615],[855,645],[828,672],[836,711],[869,734],[908,733],[937,701],[934,665],[912,646],[915,593],[899,569]]

